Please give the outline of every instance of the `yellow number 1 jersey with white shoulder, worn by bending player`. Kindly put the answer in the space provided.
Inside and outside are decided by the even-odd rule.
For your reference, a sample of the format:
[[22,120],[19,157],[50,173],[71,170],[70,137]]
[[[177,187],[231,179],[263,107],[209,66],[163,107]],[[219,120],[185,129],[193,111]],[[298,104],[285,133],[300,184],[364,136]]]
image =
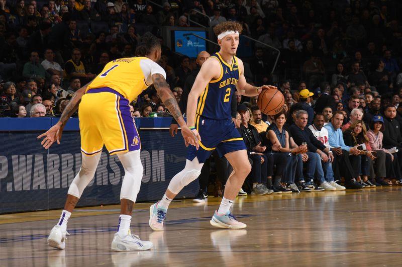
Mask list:
[[156,73],[166,79],[163,68],[146,57],[116,59],[106,64],[86,92],[94,88],[110,87],[131,102],[152,84],[151,76]]

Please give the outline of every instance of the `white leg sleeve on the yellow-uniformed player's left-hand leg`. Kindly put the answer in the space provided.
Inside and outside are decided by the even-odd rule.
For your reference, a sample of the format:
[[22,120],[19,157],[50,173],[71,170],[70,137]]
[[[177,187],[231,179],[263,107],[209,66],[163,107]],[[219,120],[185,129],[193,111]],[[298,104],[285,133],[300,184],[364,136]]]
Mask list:
[[100,153],[93,156],[87,156],[81,153],[81,168],[78,174],[74,177],[70,187],[68,188],[68,194],[80,198],[82,192],[88,183],[92,180],[93,175],[95,175],[96,166],[100,159]]

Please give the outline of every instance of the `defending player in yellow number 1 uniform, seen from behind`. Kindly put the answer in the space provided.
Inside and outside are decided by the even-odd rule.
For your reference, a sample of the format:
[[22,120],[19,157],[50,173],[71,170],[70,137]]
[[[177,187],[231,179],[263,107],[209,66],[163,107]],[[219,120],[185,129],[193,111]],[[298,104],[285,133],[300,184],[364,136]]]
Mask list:
[[191,144],[198,147],[196,134],[186,126],[177,101],[166,83],[165,71],[156,64],[160,54],[161,47],[156,37],[145,34],[136,50],[138,57],[108,63],[102,73],[74,94],[57,124],[38,136],[45,137],[41,142],[45,149],[55,141],[59,144],[68,118],[79,105],[81,169],[68,189],[59,222],[49,234],[50,246],[65,248],[68,219],[82,191],[93,178],[100,152],[105,145],[110,154],[117,154],[125,170],[120,193],[121,215],[112,250],[146,250],[152,247],[152,242],[142,241],[130,232],[131,214],[140,190],[143,167],[140,160],[140,138],[129,103],[153,84],[163,103],[180,124],[186,146]]

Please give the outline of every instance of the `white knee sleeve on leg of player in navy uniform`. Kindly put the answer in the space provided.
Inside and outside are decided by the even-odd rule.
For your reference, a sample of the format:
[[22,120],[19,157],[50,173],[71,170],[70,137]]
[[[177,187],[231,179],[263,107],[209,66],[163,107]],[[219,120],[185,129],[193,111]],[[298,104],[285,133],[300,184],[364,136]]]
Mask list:
[[178,194],[184,186],[194,181],[201,174],[203,165],[204,163],[198,163],[196,157],[191,161],[187,159],[184,169],[174,175],[167,189],[173,194]]

